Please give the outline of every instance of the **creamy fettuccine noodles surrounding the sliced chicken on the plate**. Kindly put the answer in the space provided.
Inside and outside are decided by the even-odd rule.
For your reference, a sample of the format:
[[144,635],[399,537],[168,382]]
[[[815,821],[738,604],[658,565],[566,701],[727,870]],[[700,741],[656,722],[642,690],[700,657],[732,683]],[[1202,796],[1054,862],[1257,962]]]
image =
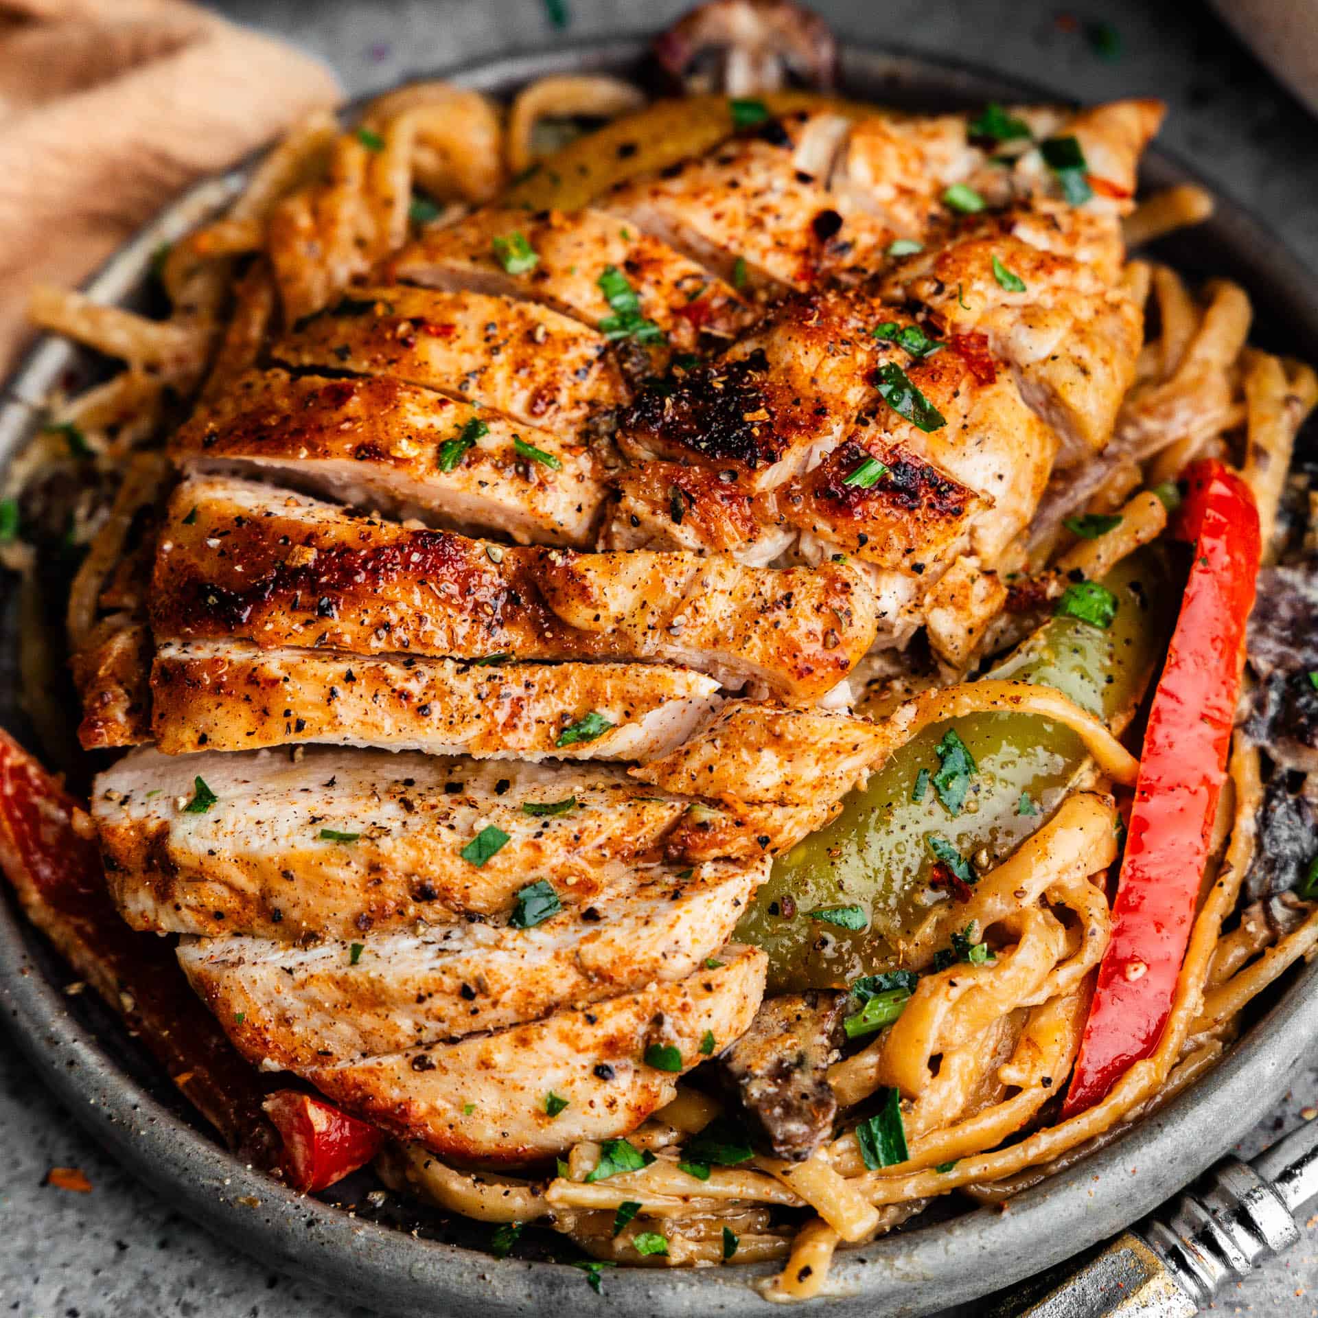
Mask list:
[[[535,162],[544,120],[609,119],[642,104],[637,88],[616,79],[554,78],[522,91],[505,116],[476,92],[416,84],[370,104],[355,130],[318,117],[274,149],[228,214],[162,256],[167,319],[38,290],[32,310],[40,326],[125,364],[105,384],[57,401],[49,428],[8,477],[8,494],[18,497],[69,461],[76,435],[95,455],[104,488],[117,486],[113,500],[99,489],[79,500],[70,531],[87,547],[69,605],[69,642],[84,676],[113,670],[144,643],[141,590],[119,564],[134,519],[167,478],[158,447],[181,403],[221,394],[258,360],[279,315],[314,315],[418,227],[445,224],[496,196]],[[1127,237],[1141,244],[1209,210],[1198,188],[1172,188],[1139,206]],[[1019,571],[1041,600],[1066,581],[1104,576],[1156,540],[1168,519],[1156,492],[1195,457],[1223,459],[1242,473],[1259,505],[1265,561],[1278,552],[1292,445],[1318,399],[1318,380],[1300,362],[1247,345],[1251,307],[1240,287],[1214,281],[1191,289],[1172,269],[1140,260],[1124,279],[1148,304],[1137,378],[1112,443],[1054,480],[1021,546]],[[1116,525],[1089,539],[1065,525],[1077,514],[1114,513]],[[21,539],[7,555],[32,580]],[[999,648],[1023,626],[1006,608],[988,623]],[[29,631],[28,700],[49,729],[58,722],[58,712],[43,709],[49,650],[38,629]],[[1032,836],[979,874],[969,902],[934,905],[903,949],[903,965],[919,973],[904,1010],[828,1073],[842,1111],[836,1137],[799,1164],[733,1156],[710,1133],[720,1130],[710,1126],[720,1101],[683,1085],[630,1136],[631,1155],[583,1143],[556,1176],[519,1180],[457,1170],[420,1145],[393,1145],[381,1160],[390,1185],[490,1223],[543,1222],[609,1263],[780,1260],[764,1294],[808,1298],[825,1286],[838,1247],[873,1240],[953,1190],[996,1202],[1116,1137],[1210,1066],[1249,1000],[1318,942],[1318,903],[1296,899],[1289,931],[1249,909],[1236,915],[1263,791],[1260,750],[1238,733],[1157,1050],[1095,1107],[1060,1122],[1056,1101],[1110,937],[1108,873],[1137,764],[1107,728],[1050,688],[973,681],[949,668],[920,680],[890,677],[871,684],[878,695],[862,708],[891,718],[899,741],[970,712],[1011,708],[1072,728],[1091,767]],[[937,949],[963,929],[979,954],[940,967]],[[895,1093],[904,1095],[907,1152],[871,1169],[862,1149],[873,1139],[869,1116],[876,1099],[895,1102],[883,1098]],[[637,1153],[630,1169],[590,1176],[601,1159]],[[684,1169],[692,1165],[696,1172]],[[647,1248],[654,1235],[664,1251]]]

